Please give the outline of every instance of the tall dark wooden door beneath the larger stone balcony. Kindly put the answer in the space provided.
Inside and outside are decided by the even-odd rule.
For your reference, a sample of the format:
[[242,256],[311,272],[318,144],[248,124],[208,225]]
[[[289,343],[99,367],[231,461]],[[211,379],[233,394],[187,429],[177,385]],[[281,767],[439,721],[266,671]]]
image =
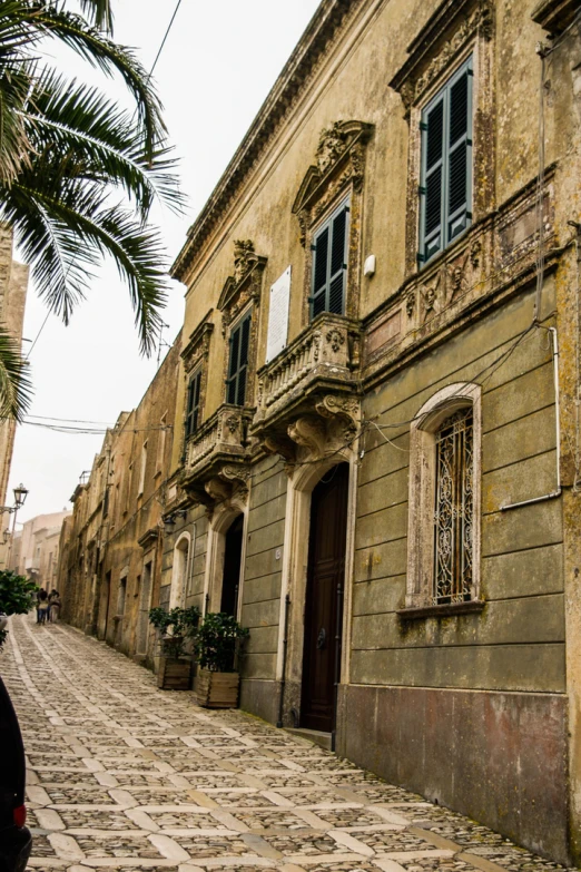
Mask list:
[[349,468],[339,463],[313,491],[305,605],[301,724],[331,733],[339,680]]

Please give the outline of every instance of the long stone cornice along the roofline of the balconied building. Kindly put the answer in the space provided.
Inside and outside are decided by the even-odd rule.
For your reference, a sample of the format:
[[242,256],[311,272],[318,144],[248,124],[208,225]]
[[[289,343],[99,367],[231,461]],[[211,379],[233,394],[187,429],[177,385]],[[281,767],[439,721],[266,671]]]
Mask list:
[[174,278],[184,281],[204,242],[236,197],[268,140],[285,117],[293,111],[321,59],[328,52],[329,43],[345,20],[364,2],[365,0],[323,0],[214,193],[189,228],[186,244],[171,267]]

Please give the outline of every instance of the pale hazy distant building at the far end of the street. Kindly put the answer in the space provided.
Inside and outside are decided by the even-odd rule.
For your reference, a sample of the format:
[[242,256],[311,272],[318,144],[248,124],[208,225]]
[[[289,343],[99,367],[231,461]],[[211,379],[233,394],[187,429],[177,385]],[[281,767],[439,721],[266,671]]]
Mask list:
[[18,536],[18,546],[12,547],[9,568],[33,579],[46,590],[57,587],[60,530],[70,515],[63,510],[37,515],[27,521]]

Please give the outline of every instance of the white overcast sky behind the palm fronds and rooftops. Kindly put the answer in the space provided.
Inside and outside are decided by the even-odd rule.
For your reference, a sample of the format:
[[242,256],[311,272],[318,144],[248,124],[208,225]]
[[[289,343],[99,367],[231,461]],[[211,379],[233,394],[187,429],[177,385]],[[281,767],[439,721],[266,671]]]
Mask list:
[[[175,0],[112,0],[115,37],[134,46],[150,69],[174,12]],[[183,218],[156,218],[173,259],[186,231],[204,206],[234,150],[298,41],[318,0],[181,0],[155,70],[165,119],[176,153],[188,209]],[[122,84],[101,79],[55,43],[53,61],[88,81],[102,82],[109,97],[127,101]],[[24,337],[33,340],[47,310],[29,287]],[[183,322],[184,287],[174,283],[163,314],[171,341]],[[31,343],[24,342],[24,353]],[[167,351],[165,349],[164,351]],[[50,315],[30,355],[35,401],[31,414],[102,424],[135,408],[156,371],[156,360],[139,355],[126,287],[110,264],[104,266],[69,327]],[[89,425],[91,427],[91,425]],[[18,428],[11,489],[29,489],[19,521],[71,508],[69,497],[91,468],[101,435],[57,433],[26,423]]]

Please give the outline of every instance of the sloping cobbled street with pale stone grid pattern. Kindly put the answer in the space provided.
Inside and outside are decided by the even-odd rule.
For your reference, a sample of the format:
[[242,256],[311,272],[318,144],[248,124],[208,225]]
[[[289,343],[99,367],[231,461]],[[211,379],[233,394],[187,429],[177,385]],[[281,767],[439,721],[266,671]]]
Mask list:
[[561,869],[256,718],[158,690],[69,627],[12,618],[0,670],[37,872]]

